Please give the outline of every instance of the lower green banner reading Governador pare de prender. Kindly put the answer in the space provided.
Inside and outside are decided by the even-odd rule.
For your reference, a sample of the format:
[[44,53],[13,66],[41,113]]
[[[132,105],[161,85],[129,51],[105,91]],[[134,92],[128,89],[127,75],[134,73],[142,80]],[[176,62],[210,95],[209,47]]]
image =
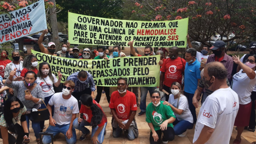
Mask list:
[[121,57],[113,59],[86,60],[52,56],[31,50],[38,63],[47,62],[52,73],[58,78],[62,73],[61,82],[74,72],[88,71],[93,76],[95,85],[117,86],[117,78],[124,77],[129,86],[159,86],[160,55],[142,57]]

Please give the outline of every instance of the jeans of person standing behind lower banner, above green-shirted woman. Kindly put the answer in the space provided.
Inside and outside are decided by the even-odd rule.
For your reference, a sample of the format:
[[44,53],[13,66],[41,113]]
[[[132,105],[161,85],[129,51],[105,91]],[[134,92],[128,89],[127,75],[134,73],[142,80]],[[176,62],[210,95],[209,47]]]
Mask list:
[[149,91],[151,96],[156,87],[140,87],[140,110],[146,112],[146,98]]

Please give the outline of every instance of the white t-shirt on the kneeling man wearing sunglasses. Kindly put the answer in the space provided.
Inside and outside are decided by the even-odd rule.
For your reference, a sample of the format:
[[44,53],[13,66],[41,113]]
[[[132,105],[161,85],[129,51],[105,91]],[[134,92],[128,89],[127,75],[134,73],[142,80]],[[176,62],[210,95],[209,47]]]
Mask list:
[[71,96],[69,99],[64,99],[62,92],[55,93],[48,104],[54,105],[53,119],[58,125],[70,124],[72,114],[79,113],[76,98]]

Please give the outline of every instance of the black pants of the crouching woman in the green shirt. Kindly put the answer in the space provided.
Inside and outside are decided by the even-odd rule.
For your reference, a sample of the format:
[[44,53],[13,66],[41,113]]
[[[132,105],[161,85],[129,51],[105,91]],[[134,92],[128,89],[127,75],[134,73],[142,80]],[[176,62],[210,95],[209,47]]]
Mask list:
[[172,141],[174,140],[174,129],[172,127],[167,127],[167,130],[157,130],[156,133],[158,135],[158,141],[155,142],[154,141],[154,138],[152,137],[152,132],[150,132],[150,137],[149,137],[149,141],[150,141],[150,144],[161,144],[161,135],[162,135],[162,132],[164,134],[163,136],[163,141]]

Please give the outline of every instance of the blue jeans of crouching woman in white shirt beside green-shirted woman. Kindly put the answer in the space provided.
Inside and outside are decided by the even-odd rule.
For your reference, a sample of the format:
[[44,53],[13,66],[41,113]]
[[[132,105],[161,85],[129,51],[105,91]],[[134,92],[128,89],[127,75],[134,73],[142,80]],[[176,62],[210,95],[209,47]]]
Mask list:
[[174,125],[173,129],[174,129],[175,135],[181,135],[187,129],[192,129],[194,125],[193,123],[190,123],[189,121],[186,121],[186,120],[178,121],[177,118],[172,124]]

